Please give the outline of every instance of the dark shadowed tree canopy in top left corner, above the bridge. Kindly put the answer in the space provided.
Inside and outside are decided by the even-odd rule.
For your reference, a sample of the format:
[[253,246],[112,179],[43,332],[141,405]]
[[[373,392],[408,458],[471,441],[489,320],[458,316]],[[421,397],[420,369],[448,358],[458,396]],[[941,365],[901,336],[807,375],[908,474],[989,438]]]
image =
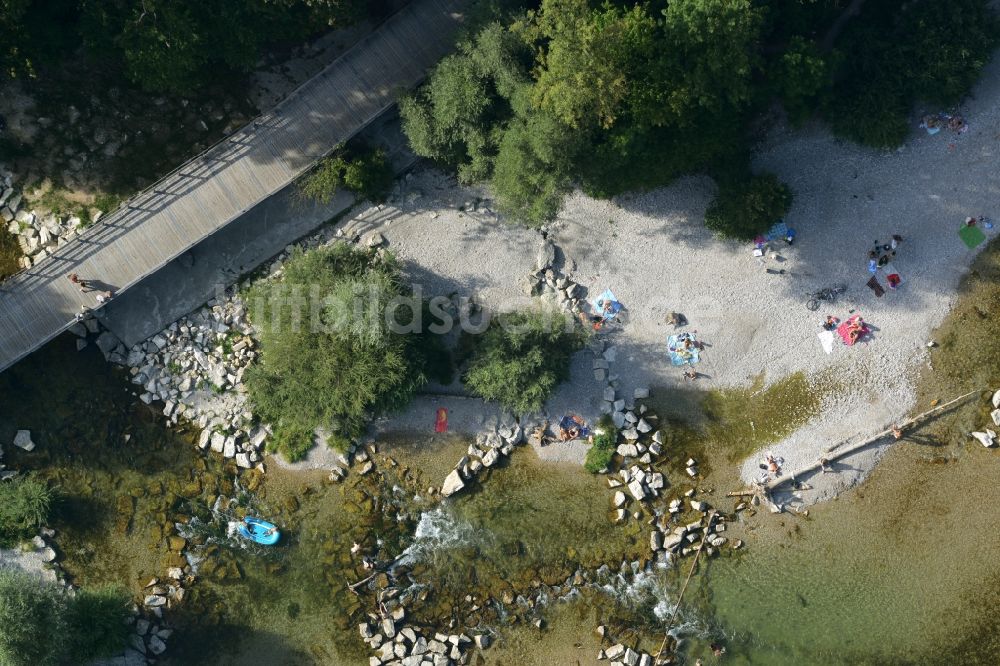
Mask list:
[[[378,5],[379,3],[375,3]],[[220,73],[249,71],[272,44],[363,17],[363,0],[0,0],[0,65],[8,77],[37,61],[86,52],[153,92],[189,94]]]

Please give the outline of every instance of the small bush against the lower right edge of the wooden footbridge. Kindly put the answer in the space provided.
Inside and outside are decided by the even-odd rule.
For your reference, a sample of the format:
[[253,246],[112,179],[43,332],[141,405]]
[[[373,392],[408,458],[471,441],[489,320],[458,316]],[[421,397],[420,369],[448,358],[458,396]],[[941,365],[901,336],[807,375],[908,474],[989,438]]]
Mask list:
[[361,199],[383,201],[395,174],[381,148],[369,150],[338,149],[322,160],[299,184],[299,195],[319,203],[330,200],[341,187]]

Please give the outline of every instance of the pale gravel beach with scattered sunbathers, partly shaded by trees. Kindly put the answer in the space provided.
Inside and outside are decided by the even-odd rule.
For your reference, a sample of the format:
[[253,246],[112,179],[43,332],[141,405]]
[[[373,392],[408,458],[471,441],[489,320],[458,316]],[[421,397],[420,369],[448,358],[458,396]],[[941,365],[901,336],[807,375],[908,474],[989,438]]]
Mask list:
[[[720,241],[704,228],[714,188],[707,178],[614,201],[568,197],[547,228],[564,255],[564,272],[587,287],[589,298],[612,288],[629,310],[627,323],[608,335],[617,351],[611,374],[619,378],[619,394],[682,384],[665,353],[673,329],[664,316],[677,310],[710,345],[698,365],[704,374],[699,388],[747,386],[762,373],[767,382],[798,371],[835,378],[838,387],[824,395],[821,414],[768,447],[788,467],[809,464],[825,447],[864,439],[905,415],[914,406],[930,333],[948,313],[977,253],[961,243],[957,229],[968,215],[995,215],[1000,64],[984,72],[961,111],[969,122],[965,134],[915,130],[889,153],[838,141],[819,126],[775,128],[756,162],[795,193],[786,220],[798,239],[791,247],[772,246],[784,261],[768,262],[785,275],[768,274],[749,244]],[[486,190],[460,187],[432,169],[416,171],[403,189],[397,205],[372,208],[344,226],[362,236],[382,233],[425,295],[475,293],[496,308],[530,302],[522,280],[534,268],[539,232],[507,225],[492,211]],[[468,206],[473,202],[474,211]],[[885,242],[894,233],[904,237],[894,264],[905,284],[875,298],[865,286],[866,255],[874,240]],[[849,288],[834,306],[806,309],[807,292],[836,283]],[[827,355],[816,337],[823,316],[844,318],[850,310],[875,327],[871,340],[838,344]],[[570,381],[543,416],[598,416],[606,384],[595,381],[592,358],[587,352],[575,357]],[[427,402],[418,400],[378,429],[429,429],[433,410]],[[455,408],[457,422],[485,423],[462,415],[479,407],[463,401]],[[539,450],[543,458],[560,460],[579,459],[582,452]],[[875,447],[844,459],[836,474],[816,477],[812,495],[827,499],[853,485],[883,452]],[[745,481],[758,476],[759,459],[744,461]]]

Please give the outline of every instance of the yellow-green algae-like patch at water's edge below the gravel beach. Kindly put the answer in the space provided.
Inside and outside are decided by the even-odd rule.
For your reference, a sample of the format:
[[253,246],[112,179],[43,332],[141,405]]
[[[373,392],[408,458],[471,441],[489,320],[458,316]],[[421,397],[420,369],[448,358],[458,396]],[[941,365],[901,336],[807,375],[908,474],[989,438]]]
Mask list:
[[747,388],[709,391],[702,403],[706,434],[731,461],[741,460],[816,416],[820,393],[802,372],[766,387],[760,374]]

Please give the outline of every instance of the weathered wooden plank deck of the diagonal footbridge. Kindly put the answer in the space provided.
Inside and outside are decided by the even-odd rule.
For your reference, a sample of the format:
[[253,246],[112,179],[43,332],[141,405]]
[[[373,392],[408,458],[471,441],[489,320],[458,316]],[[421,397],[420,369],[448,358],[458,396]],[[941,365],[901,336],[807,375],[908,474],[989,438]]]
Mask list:
[[323,71],[226,137],[0,285],[0,370],[63,332],[94,293],[118,293],[291,183],[418,84],[446,55],[464,0],[412,0]]

